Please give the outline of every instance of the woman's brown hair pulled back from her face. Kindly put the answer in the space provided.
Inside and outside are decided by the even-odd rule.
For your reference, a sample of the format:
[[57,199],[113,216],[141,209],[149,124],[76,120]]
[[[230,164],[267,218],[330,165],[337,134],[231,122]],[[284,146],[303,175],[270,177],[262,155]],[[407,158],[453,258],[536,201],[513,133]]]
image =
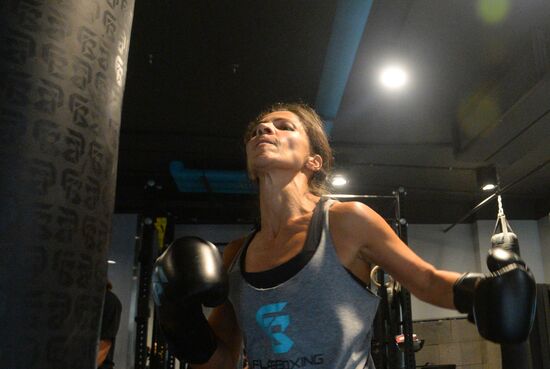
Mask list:
[[329,191],[326,180],[332,170],[334,158],[332,157],[332,148],[328,143],[328,138],[325,133],[325,124],[319,114],[317,114],[317,112],[310,106],[303,103],[276,103],[269,106],[248,124],[244,134],[244,144],[246,145],[246,143],[252,138],[254,135],[254,129],[263,117],[269,113],[283,110],[296,114],[306,131],[311,147],[311,153],[314,155],[317,154],[323,159],[323,166],[320,170],[313,173],[313,176],[309,181],[309,190],[317,196],[327,194]]

